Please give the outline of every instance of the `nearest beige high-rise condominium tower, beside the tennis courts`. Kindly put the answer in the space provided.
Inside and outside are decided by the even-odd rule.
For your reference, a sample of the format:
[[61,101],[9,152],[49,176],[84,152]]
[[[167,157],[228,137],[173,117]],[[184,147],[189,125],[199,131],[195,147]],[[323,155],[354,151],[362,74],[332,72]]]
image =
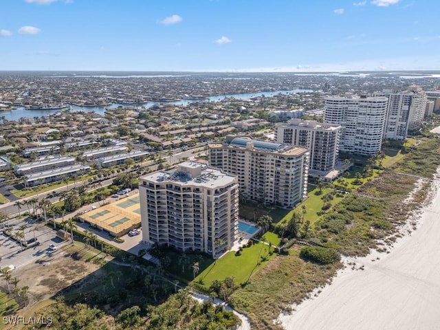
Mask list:
[[198,251],[214,258],[236,240],[239,185],[236,177],[199,162],[140,178],[143,241]]

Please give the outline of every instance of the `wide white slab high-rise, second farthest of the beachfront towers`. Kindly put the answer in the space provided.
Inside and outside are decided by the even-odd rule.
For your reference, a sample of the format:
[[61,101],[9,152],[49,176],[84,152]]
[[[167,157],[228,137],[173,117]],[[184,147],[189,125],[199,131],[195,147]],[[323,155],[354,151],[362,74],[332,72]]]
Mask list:
[[379,153],[387,104],[385,97],[326,98],[324,121],[341,126],[339,150],[366,156]]

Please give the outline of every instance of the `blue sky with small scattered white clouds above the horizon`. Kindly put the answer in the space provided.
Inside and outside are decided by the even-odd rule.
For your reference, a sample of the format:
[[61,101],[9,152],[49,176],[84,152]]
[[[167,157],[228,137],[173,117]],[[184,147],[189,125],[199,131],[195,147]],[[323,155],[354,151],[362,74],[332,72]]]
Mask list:
[[438,0],[1,0],[0,70],[440,69]]

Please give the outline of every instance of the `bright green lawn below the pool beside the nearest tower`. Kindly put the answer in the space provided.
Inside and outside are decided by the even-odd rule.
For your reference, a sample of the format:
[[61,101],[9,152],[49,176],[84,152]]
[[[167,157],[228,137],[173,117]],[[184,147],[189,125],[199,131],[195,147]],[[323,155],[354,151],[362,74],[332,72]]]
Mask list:
[[[271,250],[273,251],[273,248]],[[268,253],[269,245],[263,243],[255,243],[250,248],[243,248],[241,256],[236,256],[235,252],[229,252],[200,272],[195,282],[202,283],[208,288],[214,280],[223,281],[225,277],[233,276],[236,285],[246,283],[251,275],[264,267],[265,262],[260,263],[261,256],[267,256],[267,260],[276,256],[276,254]]]

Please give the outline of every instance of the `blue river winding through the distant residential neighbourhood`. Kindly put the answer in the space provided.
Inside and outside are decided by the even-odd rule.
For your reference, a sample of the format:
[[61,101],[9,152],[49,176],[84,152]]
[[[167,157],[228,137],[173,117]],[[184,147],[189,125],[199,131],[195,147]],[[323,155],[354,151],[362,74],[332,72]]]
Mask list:
[[[111,108],[117,108],[117,107],[145,107],[148,109],[149,107],[153,106],[154,104],[176,104],[176,105],[182,105],[186,106],[190,103],[194,102],[219,102],[225,98],[238,98],[241,100],[249,100],[250,98],[254,98],[256,96],[266,96],[268,98],[273,97],[277,94],[296,94],[301,92],[311,92],[311,89],[293,89],[290,91],[262,91],[259,93],[245,93],[245,94],[224,94],[224,95],[217,95],[217,96],[210,96],[209,98],[206,98],[205,100],[179,100],[179,101],[169,101],[169,102],[147,102],[147,103],[140,103],[140,104],[118,104],[114,103],[111,105],[106,105],[103,107],[78,107],[76,105],[71,105],[70,110],[72,111],[94,111],[100,115],[104,115],[105,109],[111,109]],[[8,111],[0,111],[0,115],[4,115],[6,120],[19,120],[23,117],[28,118],[34,118],[34,117],[43,117],[44,115],[50,115],[52,113],[56,113],[60,110],[54,110],[54,109],[37,109],[37,110],[28,110],[24,107],[19,107],[17,109],[12,109]]]

